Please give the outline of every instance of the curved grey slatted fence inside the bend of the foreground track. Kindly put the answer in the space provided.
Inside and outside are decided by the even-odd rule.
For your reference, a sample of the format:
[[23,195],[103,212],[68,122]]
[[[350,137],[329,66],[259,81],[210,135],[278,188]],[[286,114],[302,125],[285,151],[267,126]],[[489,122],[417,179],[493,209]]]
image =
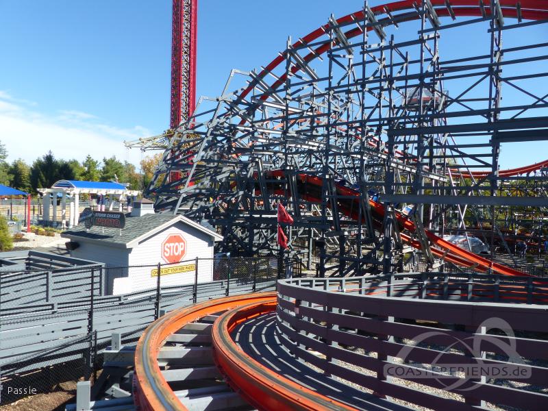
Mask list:
[[[546,306],[450,301],[460,299],[462,284],[457,278],[453,288],[447,277],[281,280],[277,335],[295,357],[377,396],[436,410],[546,410]],[[471,297],[486,288],[503,291],[495,277],[477,277],[466,284]],[[531,286],[509,281],[513,302]],[[547,286],[533,285],[543,295],[538,302],[548,303]]]

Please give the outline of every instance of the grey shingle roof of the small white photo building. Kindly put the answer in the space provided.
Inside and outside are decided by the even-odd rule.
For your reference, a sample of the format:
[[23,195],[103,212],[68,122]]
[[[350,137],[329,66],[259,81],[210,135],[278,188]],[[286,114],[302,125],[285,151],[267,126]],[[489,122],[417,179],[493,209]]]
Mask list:
[[145,214],[144,216],[126,216],[125,227],[120,229],[110,227],[91,227],[89,231],[84,225],[73,227],[63,232],[62,236],[77,236],[81,238],[89,238],[90,240],[104,240],[105,242],[114,242],[116,244],[125,245],[132,240],[147,234],[147,232],[160,227],[160,225],[168,223],[176,219],[173,214]]

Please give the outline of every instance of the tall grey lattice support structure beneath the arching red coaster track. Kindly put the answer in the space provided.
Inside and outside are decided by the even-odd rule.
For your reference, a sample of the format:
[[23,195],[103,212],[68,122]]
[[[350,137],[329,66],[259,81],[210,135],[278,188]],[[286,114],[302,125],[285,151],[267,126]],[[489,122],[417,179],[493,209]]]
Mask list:
[[[321,275],[399,271],[406,245],[418,244],[438,269],[427,231],[484,221],[494,249],[501,205],[545,204],[544,163],[499,171],[499,153],[506,142],[548,139],[548,43],[529,35],[547,20],[536,0],[365,2],[331,16],[261,71],[233,70],[219,97],[201,99],[147,194],[157,210],[218,227],[222,251],[241,254],[277,253],[282,201],[295,217],[290,254],[310,260],[315,248]],[[400,26],[418,37],[399,38]],[[449,32],[484,48],[444,50]],[[503,86],[512,99],[501,99]],[[525,195],[495,198],[508,190]],[[416,223],[403,238],[406,207]]]

